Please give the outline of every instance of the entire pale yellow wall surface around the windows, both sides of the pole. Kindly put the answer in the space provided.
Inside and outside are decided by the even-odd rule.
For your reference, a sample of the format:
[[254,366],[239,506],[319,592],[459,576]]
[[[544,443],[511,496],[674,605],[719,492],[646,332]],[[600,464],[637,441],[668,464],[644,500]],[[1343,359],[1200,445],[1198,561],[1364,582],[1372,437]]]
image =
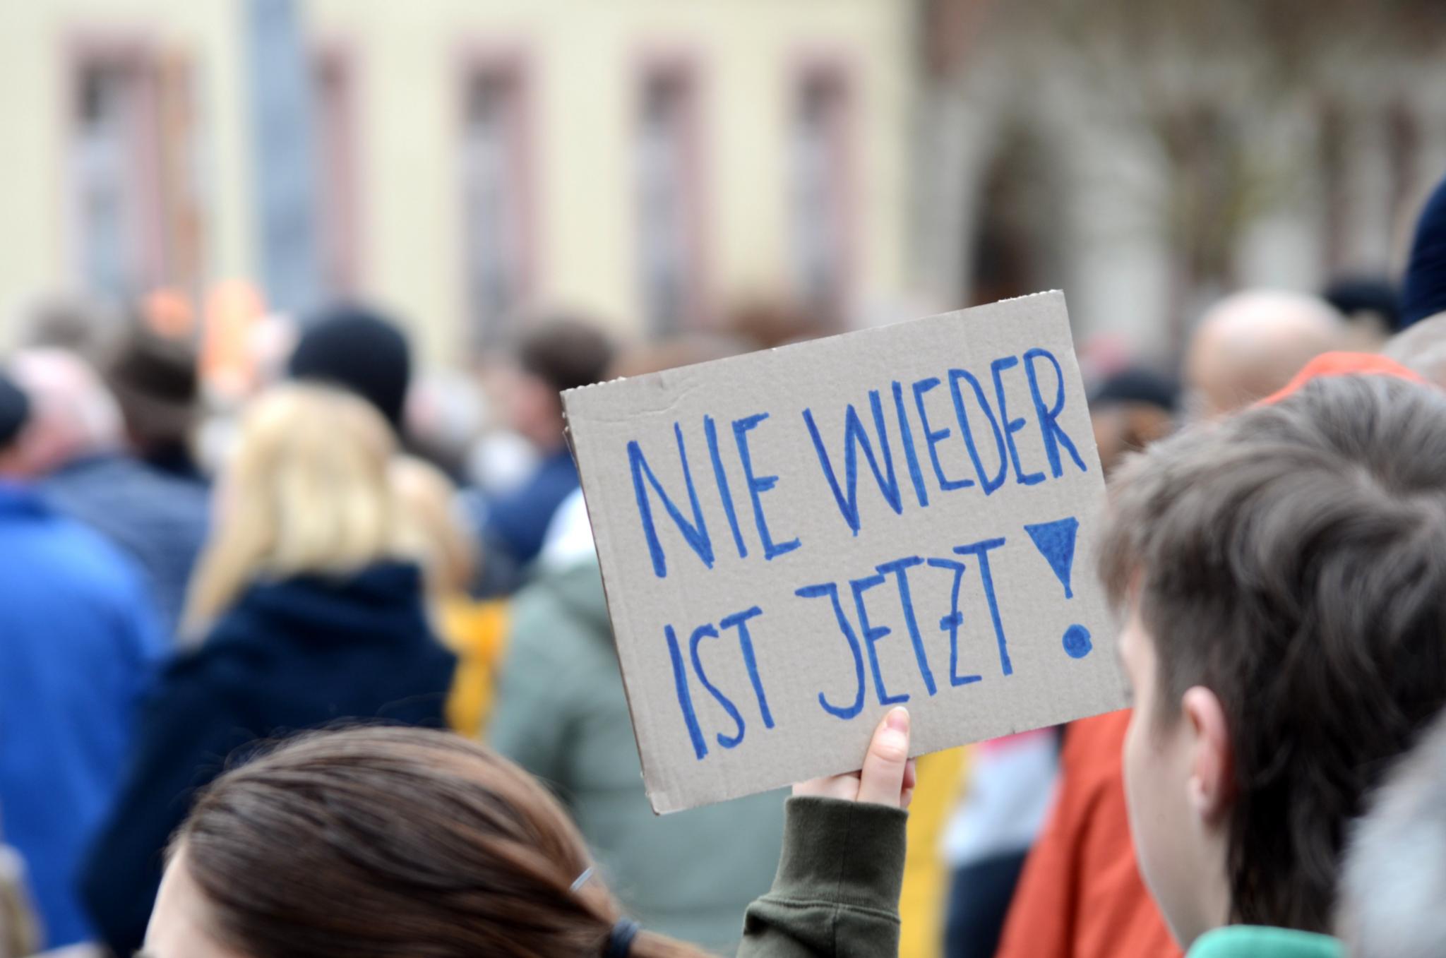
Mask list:
[[[646,49],[701,69],[710,286],[790,280],[785,123],[808,49],[855,66],[859,173],[855,288],[905,285],[907,0],[305,0],[317,39],[354,56],[363,292],[396,308],[424,357],[460,355],[458,55],[521,49],[532,68],[538,293],[639,319],[632,130]],[[252,144],[240,0],[0,3],[0,316],[69,279],[61,81],[65,36],[116,30],[188,51],[197,71],[207,279],[254,276]],[[9,324],[4,324],[9,327]],[[3,340],[4,329],[0,329]]]

